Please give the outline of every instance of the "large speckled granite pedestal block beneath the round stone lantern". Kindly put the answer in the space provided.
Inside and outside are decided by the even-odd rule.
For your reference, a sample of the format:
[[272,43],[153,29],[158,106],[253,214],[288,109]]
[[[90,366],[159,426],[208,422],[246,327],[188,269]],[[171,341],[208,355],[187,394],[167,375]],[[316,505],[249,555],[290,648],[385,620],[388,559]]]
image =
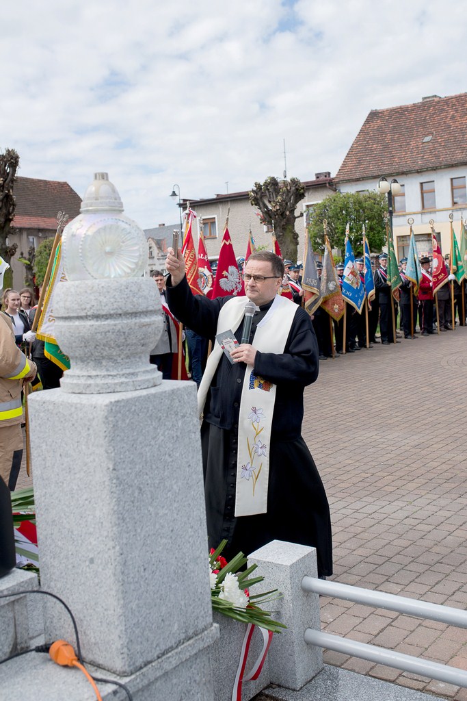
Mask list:
[[[29,397],[41,585],[85,660],[133,674],[212,626],[193,383]],[[47,637],[74,640],[47,603]]]

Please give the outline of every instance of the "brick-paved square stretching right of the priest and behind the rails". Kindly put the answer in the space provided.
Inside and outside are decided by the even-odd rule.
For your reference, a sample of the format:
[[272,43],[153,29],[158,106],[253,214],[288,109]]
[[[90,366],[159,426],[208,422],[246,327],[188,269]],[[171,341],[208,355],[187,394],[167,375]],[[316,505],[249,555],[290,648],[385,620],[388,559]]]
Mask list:
[[[466,349],[467,327],[378,344],[322,362],[307,388],[303,436],[330,502],[337,581],[467,607]],[[328,597],[321,625],[467,669],[467,629]],[[324,661],[467,701],[467,689],[342,653]]]

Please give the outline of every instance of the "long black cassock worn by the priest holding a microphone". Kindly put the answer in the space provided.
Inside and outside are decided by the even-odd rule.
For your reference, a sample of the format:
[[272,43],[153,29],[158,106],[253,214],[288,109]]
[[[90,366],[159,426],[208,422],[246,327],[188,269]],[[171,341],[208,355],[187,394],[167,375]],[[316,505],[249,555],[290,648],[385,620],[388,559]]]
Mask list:
[[[167,284],[172,313],[211,340],[216,335],[218,315],[228,299],[193,295],[186,278],[176,287]],[[272,301],[261,306],[253,316],[250,343],[271,304]],[[240,343],[242,324],[235,337]],[[303,390],[319,372],[316,336],[309,315],[302,308],[295,313],[284,353],[258,351],[253,369],[256,375],[277,385],[267,512],[235,517],[239,404],[246,365],[232,365],[222,355],[211,381],[201,428],[209,547],[217,547],[225,538],[225,557],[229,559],[240,550],[249,554],[274,539],[312,545],[316,547],[319,575],[329,576],[333,562],[328,500],[301,436]]]

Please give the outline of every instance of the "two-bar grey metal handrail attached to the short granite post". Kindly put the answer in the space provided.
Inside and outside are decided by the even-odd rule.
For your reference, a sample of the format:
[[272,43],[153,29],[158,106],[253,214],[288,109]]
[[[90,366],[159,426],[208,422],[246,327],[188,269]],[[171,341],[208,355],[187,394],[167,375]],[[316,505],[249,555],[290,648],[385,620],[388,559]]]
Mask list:
[[[440,604],[431,604],[431,601],[408,599],[397,594],[386,594],[386,592],[353,587],[339,582],[328,582],[307,576],[302,579],[302,590],[467,628],[467,611],[450,606],[440,606]],[[395,667],[404,672],[413,672],[421,676],[431,677],[431,679],[438,679],[438,681],[467,687],[467,672],[465,670],[442,665],[440,662],[404,655],[312,628],[305,630],[305,642],[370,662],[377,662],[377,664],[386,665],[386,667]]]

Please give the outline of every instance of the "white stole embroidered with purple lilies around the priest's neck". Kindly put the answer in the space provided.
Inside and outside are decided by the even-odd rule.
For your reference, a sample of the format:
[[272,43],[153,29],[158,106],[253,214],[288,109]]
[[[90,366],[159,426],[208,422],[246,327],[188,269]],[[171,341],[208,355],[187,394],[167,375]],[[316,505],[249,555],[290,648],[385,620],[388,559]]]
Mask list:
[[[218,333],[229,328],[233,332],[237,330],[244,318],[246,301],[246,297],[237,297],[223,306],[218,318]],[[283,353],[297,309],[298,306],[289,299],[277,295],[256,327],[253,346],[263,353]],[[200,414],[222,353],[221,346],[216,343],[198,390]],[[276,389],[272,382],[253,374],[252,365],[246,366],[239,409],[236,517],[267,511],[270,439]]]

